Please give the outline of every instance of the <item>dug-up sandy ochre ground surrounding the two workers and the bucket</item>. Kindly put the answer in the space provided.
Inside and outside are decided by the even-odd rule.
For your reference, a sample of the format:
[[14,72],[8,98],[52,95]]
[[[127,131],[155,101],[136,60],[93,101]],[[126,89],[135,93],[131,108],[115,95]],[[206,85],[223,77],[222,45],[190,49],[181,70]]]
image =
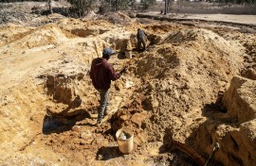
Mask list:
[[[256,164],[253,25],[0,8],[1,165],[204,165],[216,142],[211,165]],[[143,53],[134,51],[138,27],[149,34]],[[104,45],[118,52],[117,71],[129,67],[97,127],[88,73]],[[129,155],[115,136],[123,126],[134,132]]]

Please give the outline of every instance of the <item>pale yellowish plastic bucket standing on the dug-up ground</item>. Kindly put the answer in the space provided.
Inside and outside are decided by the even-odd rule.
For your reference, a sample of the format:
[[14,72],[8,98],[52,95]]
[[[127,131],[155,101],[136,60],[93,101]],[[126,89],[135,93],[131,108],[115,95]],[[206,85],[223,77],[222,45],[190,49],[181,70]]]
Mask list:
[[120,128],[116,133],[119,143],[119,151],[123,154],[129,154],[134,150],[134,132],[129,128]]

